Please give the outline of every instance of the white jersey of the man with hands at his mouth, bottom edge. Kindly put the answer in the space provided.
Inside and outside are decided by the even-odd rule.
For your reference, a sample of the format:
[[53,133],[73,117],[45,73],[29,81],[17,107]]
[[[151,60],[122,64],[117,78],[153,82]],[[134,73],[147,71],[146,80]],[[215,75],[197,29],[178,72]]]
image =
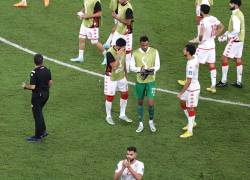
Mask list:
[[[115,172],[119,172],[122,169],[122,162],[120,161],[117,164],[117,168],[115,170]],[[144,174],[144,164],[141,161],[135,160],[135,162],[133,164],[131,164],[131,167],[133,168],[133,170],[138,173],[143,175]],[[134,176],[130,173],[130,171],[126,168],[124,169],[122,175],[121,175],[121,180],[136,180],[134,178]]]

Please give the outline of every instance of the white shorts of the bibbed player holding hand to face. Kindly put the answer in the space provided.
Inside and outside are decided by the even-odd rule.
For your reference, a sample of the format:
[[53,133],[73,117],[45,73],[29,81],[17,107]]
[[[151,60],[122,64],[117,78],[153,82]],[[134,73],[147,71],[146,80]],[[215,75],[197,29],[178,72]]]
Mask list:
[[118,81],[111,81],[110,76],[104,77],[104,95],[114,96],[116,91],[127,92],[128,91],[128,82],[124,77]]

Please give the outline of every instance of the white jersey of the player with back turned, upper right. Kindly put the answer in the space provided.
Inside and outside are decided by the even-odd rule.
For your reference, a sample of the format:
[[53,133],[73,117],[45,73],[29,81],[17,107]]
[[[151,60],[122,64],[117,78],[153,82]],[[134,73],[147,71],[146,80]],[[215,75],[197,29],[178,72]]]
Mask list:
[[214,16],[208,16],[201,20],[200,25],[203,27],[204,34],[199,48],[212,49],[215,48],[214,39],[216,38],[216,29],[220,21]]

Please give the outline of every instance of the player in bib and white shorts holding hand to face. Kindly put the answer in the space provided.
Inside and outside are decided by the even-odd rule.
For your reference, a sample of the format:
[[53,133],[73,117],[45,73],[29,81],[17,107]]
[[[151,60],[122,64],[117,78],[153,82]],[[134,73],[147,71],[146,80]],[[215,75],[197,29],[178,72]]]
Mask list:
[[126,41],[119,38],[116,40],[116,45],[110,47],[106,54],[107,65],[104,78],[104,95],[106,97],[106,121],[110,125],[115,124],[111,116],[111,108],[116,91],[121,92],[119,119],[132,122],[125,114],[128,102],[125,46]]

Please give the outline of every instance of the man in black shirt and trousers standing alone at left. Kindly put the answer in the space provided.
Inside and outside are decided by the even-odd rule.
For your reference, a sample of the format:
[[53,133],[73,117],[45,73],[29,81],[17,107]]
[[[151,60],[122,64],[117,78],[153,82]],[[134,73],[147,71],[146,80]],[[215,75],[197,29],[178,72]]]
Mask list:
[[35,69],[31,71],[30,83],[23,83],[23,88],[32,90],[32,113],[35,119],[35,135],[27,138],[28,142],[40,141],[47,136],[42,109],[49,99],[49,88],[52,85],[51,72],[43,65],[43,56],[34,56]]

